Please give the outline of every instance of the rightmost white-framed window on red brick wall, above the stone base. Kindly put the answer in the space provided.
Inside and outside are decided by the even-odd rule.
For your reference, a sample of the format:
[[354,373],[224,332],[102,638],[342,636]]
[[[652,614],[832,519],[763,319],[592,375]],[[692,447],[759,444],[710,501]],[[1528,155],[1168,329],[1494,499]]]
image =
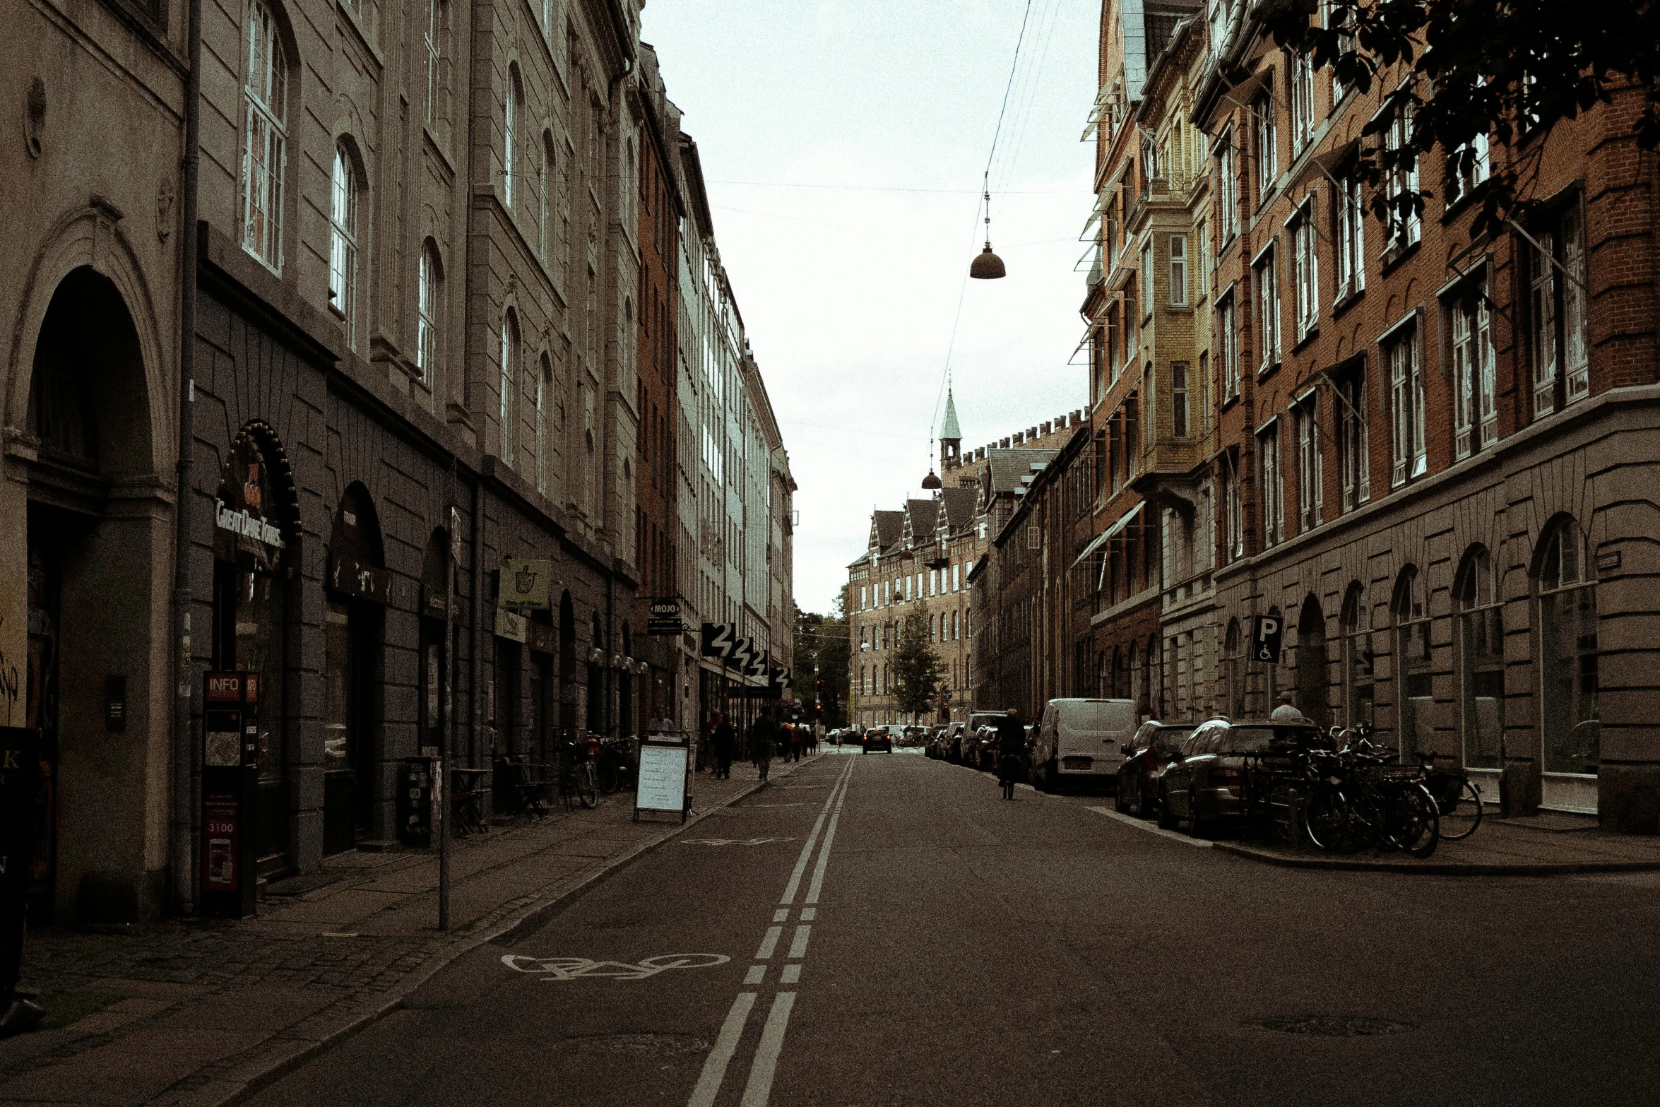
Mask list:
[[1590,393],[1587,334],[1585,221],[1575,199],[1559,217],[1536,226],[1527,257],[1527,335],[1534,365],[1534,417]]

